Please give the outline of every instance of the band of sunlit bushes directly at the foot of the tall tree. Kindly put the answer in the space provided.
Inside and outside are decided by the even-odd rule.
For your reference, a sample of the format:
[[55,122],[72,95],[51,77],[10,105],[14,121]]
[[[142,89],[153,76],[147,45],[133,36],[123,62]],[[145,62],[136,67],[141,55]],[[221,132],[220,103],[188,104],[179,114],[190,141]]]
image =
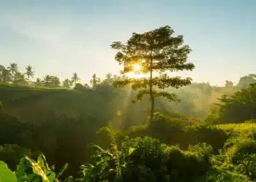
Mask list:
[[152,122],[140,127],[132,127],[124,132],[132,138],[149,135],[158,138],[162,143],[178,144],[187,149],[189,144],[208,143],[214,151],[222,149],[227,141],[227,132],[217,127],[208,126],[196,119],[170,118],[162,114],[154,114]]

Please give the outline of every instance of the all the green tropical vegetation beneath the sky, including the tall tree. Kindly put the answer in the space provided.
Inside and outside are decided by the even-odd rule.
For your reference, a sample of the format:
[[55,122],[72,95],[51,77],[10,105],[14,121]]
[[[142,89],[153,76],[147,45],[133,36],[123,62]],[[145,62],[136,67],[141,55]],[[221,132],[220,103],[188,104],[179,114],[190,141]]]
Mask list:
[[173,33],[113,42],[122,74],[89,83],[0,66],[0,181],[256,181],[255,74],[170,77],[195,67]]

